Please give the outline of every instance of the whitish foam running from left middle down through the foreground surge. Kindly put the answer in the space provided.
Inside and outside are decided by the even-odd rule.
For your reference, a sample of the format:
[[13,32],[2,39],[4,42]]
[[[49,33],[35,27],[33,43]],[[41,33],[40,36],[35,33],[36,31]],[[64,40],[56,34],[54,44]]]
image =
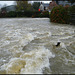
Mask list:
[[[8,63],[2,65],[1,72],[5,74],[42,74],[45,67],[49,68],[49,59],[54,57],[50,50],[42,46],[28,51],[28,53],[22,50],[24,46],[37,37],[37,34],[23,32],[21,29],[7,30],[6,32],[7,34],[2,40],[1,47],[8,47],[8,51],[12,53],[12,58]],[[39,34],[50,36],[48,32]]]

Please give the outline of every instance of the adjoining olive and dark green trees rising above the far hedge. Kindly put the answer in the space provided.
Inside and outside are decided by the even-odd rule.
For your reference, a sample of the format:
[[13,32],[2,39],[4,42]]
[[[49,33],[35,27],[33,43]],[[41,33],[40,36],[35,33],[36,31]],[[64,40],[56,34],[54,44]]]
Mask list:
[[37,11],[39,9],[40,2],[34,2],[32,5],[28,1],[16,1],[16,11]]

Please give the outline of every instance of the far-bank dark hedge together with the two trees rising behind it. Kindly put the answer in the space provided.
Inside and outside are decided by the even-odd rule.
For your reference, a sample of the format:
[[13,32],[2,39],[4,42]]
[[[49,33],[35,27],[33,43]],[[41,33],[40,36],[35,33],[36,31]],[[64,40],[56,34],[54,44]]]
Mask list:
[[38,11],[40,2],[34,2],[32,5],[28,3],[28,1],[15,1],[16,11],[7,12],[5,10],[4,13],[0,12],[0,18],[6,17],[46,17],[49,16],[48,12],[42,13]]

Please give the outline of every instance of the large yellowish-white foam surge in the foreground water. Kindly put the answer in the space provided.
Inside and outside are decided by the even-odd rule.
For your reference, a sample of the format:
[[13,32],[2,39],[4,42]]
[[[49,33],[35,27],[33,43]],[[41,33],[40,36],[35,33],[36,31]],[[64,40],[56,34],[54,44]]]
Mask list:
[[52,57],[54,55],[50,50],[39,47],[38,50],[23,53],[19,58],[12,58],[2,69],[6,74],[42,74],[45,67],[49,68]]

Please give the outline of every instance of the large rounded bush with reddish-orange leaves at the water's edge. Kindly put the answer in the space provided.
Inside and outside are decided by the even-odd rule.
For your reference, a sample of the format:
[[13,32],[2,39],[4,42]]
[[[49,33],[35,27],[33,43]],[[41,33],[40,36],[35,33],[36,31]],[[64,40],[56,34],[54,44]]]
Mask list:
[[63,6],[54,7],[50,14],[50,21],[55,23],[69,23],[68,9]]

